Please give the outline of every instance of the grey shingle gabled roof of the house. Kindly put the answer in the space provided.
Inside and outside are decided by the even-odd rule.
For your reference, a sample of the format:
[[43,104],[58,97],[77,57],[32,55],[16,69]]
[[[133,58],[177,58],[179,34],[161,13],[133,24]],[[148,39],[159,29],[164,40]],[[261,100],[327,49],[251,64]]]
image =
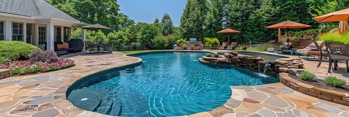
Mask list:
[[0,0],[0,13],[80,22],[45,0]]

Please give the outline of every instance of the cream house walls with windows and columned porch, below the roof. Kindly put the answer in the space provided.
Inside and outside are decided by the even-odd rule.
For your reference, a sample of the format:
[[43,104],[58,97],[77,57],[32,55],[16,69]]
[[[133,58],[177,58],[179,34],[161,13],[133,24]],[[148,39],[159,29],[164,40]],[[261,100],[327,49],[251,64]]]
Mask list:
[[[32,18],[9,14],[0,14],[0,16],[3,16],[0,20],[3,40],[23,41],[42,50],[55,50],[54,42],[68,42],[72,39],[71,29],[89,25],[57,18]],[[82,29],[83,42],[85,37],[85,29]]]

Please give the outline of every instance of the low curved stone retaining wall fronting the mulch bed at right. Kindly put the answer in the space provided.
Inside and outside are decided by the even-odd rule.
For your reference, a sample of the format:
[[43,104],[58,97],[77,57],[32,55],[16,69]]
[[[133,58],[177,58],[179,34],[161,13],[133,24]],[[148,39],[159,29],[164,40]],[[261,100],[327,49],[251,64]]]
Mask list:
[[309,84],[302,83],[296,79],[293,79],[288,76],[288,73],[280,73],[279,74],[280,82],[282,82],[287,87],[292,88],[298,92],[303,94],[324,99],[327,101],[332,101],[335,103],[343,104],[349,106],[349,97],[348,93],[337,92],[333,90],[328,90],[316,86],[312,86]]

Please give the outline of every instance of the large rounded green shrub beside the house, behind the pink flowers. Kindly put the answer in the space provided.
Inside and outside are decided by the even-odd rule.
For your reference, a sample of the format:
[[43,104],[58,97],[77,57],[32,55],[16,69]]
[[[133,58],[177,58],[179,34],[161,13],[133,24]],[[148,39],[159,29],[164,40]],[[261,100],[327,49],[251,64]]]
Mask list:
[[0,63],[11,60],[24,60],[33,50],[40,48],[22,41],[0,41]]

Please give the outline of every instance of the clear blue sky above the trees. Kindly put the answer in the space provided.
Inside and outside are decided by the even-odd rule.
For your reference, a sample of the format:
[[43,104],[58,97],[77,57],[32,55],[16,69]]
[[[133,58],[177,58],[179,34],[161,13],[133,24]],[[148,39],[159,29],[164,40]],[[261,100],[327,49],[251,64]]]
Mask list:
[[180,16],[187,0],[117,0],[120,12],[135,22],[153,23],[161,20],[165,13],[170,14],[175,26],[179,26]]

